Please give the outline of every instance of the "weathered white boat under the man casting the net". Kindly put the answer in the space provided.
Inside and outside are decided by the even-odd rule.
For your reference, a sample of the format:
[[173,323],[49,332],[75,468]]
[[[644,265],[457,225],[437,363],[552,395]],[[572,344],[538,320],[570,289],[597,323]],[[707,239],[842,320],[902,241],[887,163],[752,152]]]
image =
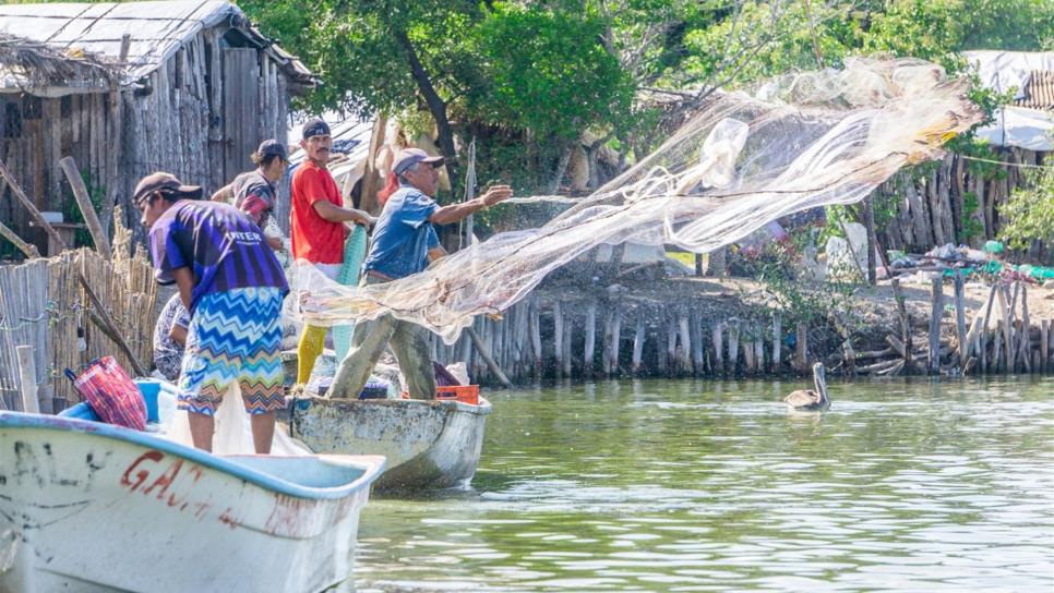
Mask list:
[[316,453],[380,455],[375,489],[467,487],[483,447],[491,403],[448,400],[296,398],[289,434]]

